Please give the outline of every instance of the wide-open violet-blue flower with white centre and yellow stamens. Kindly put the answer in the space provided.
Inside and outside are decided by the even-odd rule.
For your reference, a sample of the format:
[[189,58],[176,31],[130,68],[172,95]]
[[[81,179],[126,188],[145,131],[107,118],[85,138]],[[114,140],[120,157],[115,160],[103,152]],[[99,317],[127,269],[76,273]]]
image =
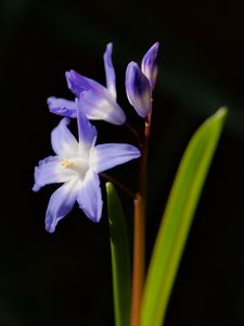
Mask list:
[[50,233],[76,201],[91,221],[99,222],[103,206],[99,173],[140,156],[140,151],[127,143],[95,146],[97,129],[80,110],[77,110],[79,141],[67,128],[68,124],[69,118],[63,118],[51,134],[56,155],[35,167],[34,191],[48,184],[63,183],[51,196],[47,209],[46,229]]

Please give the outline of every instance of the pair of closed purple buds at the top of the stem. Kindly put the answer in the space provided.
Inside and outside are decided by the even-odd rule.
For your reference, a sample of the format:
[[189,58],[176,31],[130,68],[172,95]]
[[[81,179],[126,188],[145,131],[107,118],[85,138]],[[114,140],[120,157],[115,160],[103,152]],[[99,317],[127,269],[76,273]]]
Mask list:
[[158,70],[159,43],[154,43],[142,59],[141,70],[130,62],[126,70],[126,93],[137,113],[145,117],[151,110],[152,92]]

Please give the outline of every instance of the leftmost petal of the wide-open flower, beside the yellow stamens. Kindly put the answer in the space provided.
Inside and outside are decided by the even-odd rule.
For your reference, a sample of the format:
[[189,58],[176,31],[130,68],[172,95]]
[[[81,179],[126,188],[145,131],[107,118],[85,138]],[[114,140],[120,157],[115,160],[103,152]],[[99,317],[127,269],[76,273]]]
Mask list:
[[35,167],[34,191],[49,184],[65,183],[70,179],[72,171],[62,166],[62,160],[59,156],[49,156],[39,162]]

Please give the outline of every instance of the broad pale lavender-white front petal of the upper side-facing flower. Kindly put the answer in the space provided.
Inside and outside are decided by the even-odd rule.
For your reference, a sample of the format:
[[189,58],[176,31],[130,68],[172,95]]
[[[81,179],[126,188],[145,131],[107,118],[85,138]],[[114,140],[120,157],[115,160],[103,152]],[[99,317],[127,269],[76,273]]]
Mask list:
[[79,98],[79,108],[89,120],[103,120],[114,125],[126,122],[126,115],[121,108],[115,102],[108,90],[106,95],[85,91]]

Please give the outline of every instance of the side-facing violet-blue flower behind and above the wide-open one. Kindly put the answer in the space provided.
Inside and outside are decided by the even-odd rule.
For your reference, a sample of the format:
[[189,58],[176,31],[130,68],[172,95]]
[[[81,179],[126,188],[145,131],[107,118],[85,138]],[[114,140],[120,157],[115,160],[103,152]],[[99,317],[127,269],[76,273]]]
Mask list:
[[75,71],[65,73],[67,86],[76,96],[75,101],[48,98],[51,112],[68,117],[76,117],[79,106],[84,114],[90,120],[103,120],[115,125],[126,122],[126,115],[116,102],[115,71],[112,62],[113,45],[106,46],[103,55],[106,75],[106,87],[98,82],[87,78]]

